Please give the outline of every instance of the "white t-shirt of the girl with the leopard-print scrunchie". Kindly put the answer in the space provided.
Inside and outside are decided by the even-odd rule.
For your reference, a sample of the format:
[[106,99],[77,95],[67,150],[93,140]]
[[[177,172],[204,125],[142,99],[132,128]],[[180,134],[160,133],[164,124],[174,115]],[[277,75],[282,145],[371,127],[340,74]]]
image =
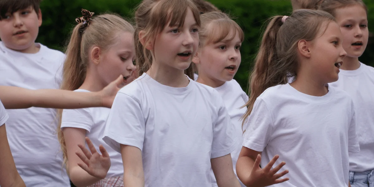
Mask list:
[[[89,92],[87,90],[76,90],[77,92]],[[86,136],[90,138],[96,150],[102,144],[110,156],[110,169],[107,177],[123,176],[123,164],[121,154],[114,151],[103,140],[105,122],[108,119],[110,108],[92,107],[62,110],[61,130],[65,127],[86,129]],[[86,147],[88,148],[87,144]]]

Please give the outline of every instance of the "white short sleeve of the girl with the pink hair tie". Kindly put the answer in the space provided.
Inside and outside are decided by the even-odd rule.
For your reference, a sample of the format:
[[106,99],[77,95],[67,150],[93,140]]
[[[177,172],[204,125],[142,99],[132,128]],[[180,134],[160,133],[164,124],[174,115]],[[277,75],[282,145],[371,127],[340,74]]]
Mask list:
[[269,108],[261,98],[256,99],[244,129],[243,146],[262,152],[270,141],[273,119]]

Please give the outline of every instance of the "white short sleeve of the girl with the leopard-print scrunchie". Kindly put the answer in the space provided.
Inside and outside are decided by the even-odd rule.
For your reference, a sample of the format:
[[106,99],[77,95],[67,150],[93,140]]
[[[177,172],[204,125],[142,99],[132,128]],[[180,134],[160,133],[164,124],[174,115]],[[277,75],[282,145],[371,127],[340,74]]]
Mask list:
[[93,126],[90,108],[64,109],[62,110],[61,130],[65,127],[74,127],[91,131]]

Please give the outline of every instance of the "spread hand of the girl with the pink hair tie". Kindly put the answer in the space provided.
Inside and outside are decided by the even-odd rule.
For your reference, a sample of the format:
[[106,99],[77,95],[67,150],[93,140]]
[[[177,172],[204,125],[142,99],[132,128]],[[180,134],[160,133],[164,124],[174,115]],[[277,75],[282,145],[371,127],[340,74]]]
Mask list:
[[276,166],[274,169],[272,169],[272,166],[274,165],[275,161],[279,158],[279,155],[276,155],[273,157],[272,160],[263,168],[260,168],[260,162],[261,162],[261,155],[258,154],[257,158],[255,160],[255,163],[253,165],[253,169],[251,172],[251,175],[249,176],[249,181],[251,187],[264,187],[264,186],[270,186],[273,184],[283,183],[284,181],[288,181],[289,178],[283,178],[279,179],[280,177],[283,177],[283,175],[288,173],[288,170],[285,170],[279,174],[276,174],[276,172],[279,171],[286,163],[282,162],[278,166]]

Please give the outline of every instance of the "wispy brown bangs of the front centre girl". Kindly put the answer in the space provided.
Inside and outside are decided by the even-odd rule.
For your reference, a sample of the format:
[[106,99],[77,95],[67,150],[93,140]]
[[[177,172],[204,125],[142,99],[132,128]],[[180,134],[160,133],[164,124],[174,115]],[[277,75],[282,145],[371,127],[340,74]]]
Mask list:
[[152,10],[150,23],[156,23],[154,25],[158,26],[155,28],[157,33],[160,33],[169,21],[169,27],[182,27],[188,8],[192,10],[196,24],[200,27],[199,10],[190,0],[160,0]]

